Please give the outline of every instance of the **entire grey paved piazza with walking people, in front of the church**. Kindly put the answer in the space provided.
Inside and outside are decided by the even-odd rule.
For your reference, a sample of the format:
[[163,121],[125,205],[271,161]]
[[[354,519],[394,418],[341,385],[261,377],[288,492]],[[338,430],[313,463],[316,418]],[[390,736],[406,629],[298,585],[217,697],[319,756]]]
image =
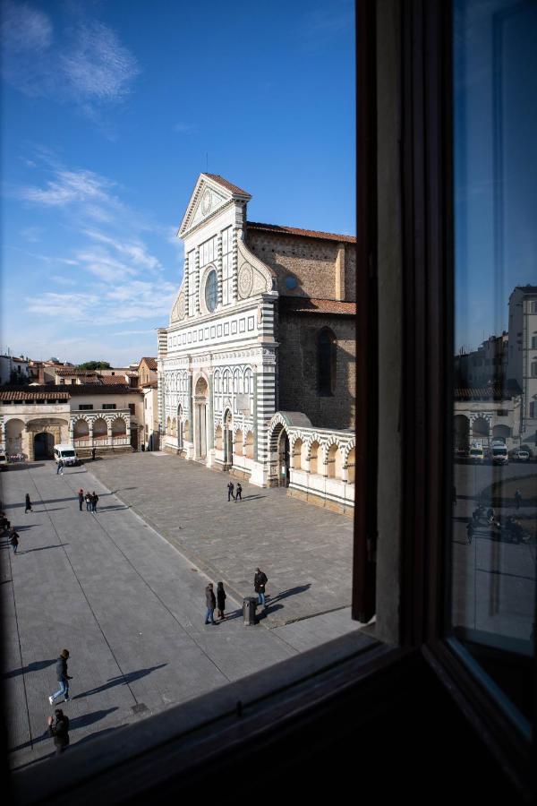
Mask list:
[[[351,519],[247,483],[243,502],[228,503],[226,474],[165,454],[102,459],[64,476],[35,463],[0,479],[21,538],[16,556],[5,537],[0,553],[13,768],[54,750],[47,697],[64,647],[74,744],[348,632],[357,646],[371,640],[348,609]],[[79,510],[80,487],[98,492],[97,515]],[[27,492],[34,511],[25,515]],[[242,596],[257,565],[269,607],[245,627]],[[216,627],[203,623],[208,577],[227,583],[230,618]]]

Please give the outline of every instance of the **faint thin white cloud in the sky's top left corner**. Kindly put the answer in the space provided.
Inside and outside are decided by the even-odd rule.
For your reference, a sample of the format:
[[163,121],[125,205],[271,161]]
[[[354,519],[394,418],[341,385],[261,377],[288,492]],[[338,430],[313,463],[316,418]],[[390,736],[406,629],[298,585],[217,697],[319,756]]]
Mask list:
[[4,0],[4,79],[30,97],[70,101],[90,117],[131,91],[140,68],[115,31],[82,17],[55,30],[28,3]]

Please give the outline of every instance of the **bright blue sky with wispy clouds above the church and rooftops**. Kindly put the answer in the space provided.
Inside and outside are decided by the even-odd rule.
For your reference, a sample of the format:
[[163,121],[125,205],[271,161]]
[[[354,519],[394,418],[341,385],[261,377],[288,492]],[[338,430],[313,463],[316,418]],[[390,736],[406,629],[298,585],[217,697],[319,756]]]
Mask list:
[[2,351],[156,355],[207,169],[251,220],[354,234],[350,0],[2,8]]

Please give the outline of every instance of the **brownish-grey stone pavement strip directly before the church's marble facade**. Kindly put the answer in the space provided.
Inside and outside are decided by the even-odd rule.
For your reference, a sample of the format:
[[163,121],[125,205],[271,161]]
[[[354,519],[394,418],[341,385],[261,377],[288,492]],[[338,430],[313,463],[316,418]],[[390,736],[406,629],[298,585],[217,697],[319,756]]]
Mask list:
[[[167,453],[132,453],[87,465],[132,510],[240,600],[259,565],[268,576],[266,626],[351,604],[353,521]],[[236,479],[232,479],[236,484]]]

